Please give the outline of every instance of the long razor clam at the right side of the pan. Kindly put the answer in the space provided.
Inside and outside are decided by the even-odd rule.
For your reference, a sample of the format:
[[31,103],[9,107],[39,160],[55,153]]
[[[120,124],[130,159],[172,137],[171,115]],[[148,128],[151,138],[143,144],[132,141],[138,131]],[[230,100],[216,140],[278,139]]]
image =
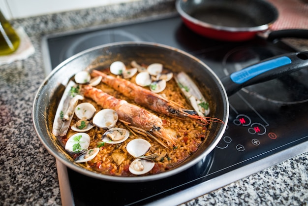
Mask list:
[[191,106],[195,109],[198,115],[202,117],[207,116],[210,113],[209,104],[192,79],[185,72],[178,73],[175,76],[175,79],[184,96],[190,102]]

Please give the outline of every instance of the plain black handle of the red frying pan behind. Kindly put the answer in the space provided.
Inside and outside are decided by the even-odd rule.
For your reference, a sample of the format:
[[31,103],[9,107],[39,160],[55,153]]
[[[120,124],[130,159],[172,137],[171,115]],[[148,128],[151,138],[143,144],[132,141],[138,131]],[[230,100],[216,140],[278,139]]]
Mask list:
[[293,38],[308,38],[308,30],[304,29],[288,29],[273,31],[268,34],[267,40],[274,41],[278,38],[293,37]]

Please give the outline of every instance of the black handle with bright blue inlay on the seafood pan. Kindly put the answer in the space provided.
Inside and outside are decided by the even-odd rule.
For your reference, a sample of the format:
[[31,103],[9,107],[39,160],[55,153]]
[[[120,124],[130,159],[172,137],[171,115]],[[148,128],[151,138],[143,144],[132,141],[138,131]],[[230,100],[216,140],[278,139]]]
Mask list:
[[228,96],[243,87],[308,68],[308,51],[289,53],[263,60],[221,79]]

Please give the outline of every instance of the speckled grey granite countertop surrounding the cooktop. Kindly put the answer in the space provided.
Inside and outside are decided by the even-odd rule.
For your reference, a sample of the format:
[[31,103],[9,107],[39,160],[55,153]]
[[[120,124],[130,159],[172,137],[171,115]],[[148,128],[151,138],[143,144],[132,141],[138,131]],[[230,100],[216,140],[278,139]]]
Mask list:
[[[43,147],[31,119],[35,93],[45,78],[42,36],[173,11],[174,0],[143,0],[11,21],[24,28],[35,53],[0,66],[0,205],[62,204],[56,160]],[[183,206],[307,204],[308,153],[304,153]]]

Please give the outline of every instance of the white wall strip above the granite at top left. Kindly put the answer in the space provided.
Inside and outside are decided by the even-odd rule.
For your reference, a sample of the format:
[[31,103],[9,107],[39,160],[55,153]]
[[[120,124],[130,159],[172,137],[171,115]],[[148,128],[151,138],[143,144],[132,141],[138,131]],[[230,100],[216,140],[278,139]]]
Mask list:
[[0,8],[7,19],[18,19],[129,1],[136,0],[0,0]]

